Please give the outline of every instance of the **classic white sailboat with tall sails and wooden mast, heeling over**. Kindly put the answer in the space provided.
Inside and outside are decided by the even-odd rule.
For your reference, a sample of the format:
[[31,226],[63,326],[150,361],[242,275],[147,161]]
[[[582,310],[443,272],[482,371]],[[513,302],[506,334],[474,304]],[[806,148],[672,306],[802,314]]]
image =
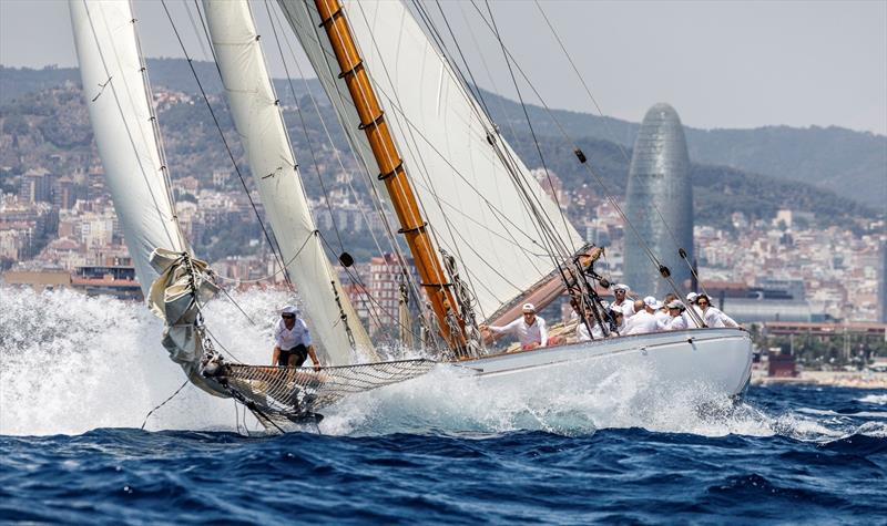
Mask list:
[[[558,381],[578,367],[591,371],[582,381],[593,384],[600,381],[595,372],[641,367],[657,379],[645,389],[705,385],[730,396],[744,390],[752,344],[740,329],[614,332],[587,342],[568,337],[542,349],[497,351],[480,327],[510,321],[528,301],[541,309],[567,295],[578,306],[578,323],[605,326],[598,290],[608,283],[594,271],[601,249],[582,240],[499,133],[463,72],[404,3],[278,0],[278,6],[356,157],[373,175],[376,204],[397,218],[388,230],[405,241],[418,274],[409,279],[404,243],[392,243],[405,267],[402,292],[418,307],[415,320],[436,360],[379,358],[312,220],[251,6],[203,0],[234,125],[276,239],[271,245],[327,358],[320,371],[224,359],[203,312],[220,283],[195,257],[175,217],[136,20],[129,2],[70,0],[114,206],[147,303],[165,322],[163,344],[193,383],[242,402],[274,431],[317,419],[318,410],[349,394],[432,368],[455,371],[448,381],[493,389],[540,378]],[[350,257],[343,254],[339,262],[347,268]]]

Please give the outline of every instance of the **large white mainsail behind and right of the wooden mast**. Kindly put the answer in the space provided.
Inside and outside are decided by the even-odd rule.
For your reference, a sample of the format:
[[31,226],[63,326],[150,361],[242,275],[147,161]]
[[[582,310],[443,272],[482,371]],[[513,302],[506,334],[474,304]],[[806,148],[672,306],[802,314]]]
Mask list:
[[[371,159],[314,2],[278,1],[351,146]],[[457,256],[481,314],[489,316],[554,267],[528,203],[551,218],[568,250],[578,250],[582,239],[401,2],[343,4],[436,240]]]

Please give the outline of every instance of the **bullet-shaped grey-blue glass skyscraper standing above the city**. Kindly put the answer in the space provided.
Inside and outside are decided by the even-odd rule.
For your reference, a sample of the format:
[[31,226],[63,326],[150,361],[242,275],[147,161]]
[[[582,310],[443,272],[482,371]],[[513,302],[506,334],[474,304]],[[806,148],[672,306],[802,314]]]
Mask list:
[[641,296],[662,298],[672,291],[651,262],[645,244],[669,267],[672,280],[684,296],[684,281],[690,280],[691,272],[677,250],[686,250],[687,259],[693,261],[693,188],[684,128],[677,112],[669,104],[651,107],[638,132],[625,212],[636,234],[625,226],[624,281]]

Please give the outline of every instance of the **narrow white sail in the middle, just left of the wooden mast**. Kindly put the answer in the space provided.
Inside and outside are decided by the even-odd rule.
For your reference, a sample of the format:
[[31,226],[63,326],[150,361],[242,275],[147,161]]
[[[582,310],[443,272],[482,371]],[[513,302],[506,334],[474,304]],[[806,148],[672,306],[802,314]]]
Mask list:
[[348,330],[364,359],[376,358],[317,235],[249,6],[246,0],[204,0],[203,6],[234,124],[312,331],[333,364],[357,358]]

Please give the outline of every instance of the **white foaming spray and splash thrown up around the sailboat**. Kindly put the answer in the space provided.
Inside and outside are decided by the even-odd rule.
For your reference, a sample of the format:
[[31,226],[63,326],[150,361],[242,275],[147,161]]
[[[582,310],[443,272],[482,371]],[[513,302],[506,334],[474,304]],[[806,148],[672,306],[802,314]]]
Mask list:
[[[222,298],[206,307],[207,327],[237,360],[268,362],[274,312],[288,296],[262,290],[232,296],[237,306]],[[64,290],[35,293],[0,288],[0,434],[139,427],[147,412],[184,381],[181,369],[160,344],[160,321],[141,303]],[[328,408],[319,431],[332,435],[458,433],[485,437],[514,431],[578,436],[602,429],[643,427],[702,436],[782,435],[817,442],[857,432],[884,433],[878,426],[858,429],[856,420],[868,416],[864,414],[855,415],[856,420],[804,411],[773,414],[757,409],[754,401],[736,405],[699,385],[653,398],[643,394],[651,391],[643,388],[655,381],[650,371],[612,371],[589,382],[591,372],[578,367],[569,378],[540,377],[532,384],[490,388],[459,381],[455,370],[441,367],[426,377]],[[879,403],[877,396],[863,400]],[[261,426],[232,400],[211,396],[188,384],[151,415],[146,429],[253,432]]]

